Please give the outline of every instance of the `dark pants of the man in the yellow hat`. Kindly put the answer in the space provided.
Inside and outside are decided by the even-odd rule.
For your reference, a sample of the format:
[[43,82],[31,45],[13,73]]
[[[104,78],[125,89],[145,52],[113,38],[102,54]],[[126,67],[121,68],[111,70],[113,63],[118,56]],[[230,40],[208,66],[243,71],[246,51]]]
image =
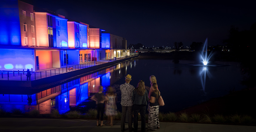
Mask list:
[[126,117],[126,112],[128,112],[128,127],[129,131],[132,131],[132,111],[133,111],[133,106],[122,106],[122,116],[121,116],[121,130],[125,130],[125,117]]

